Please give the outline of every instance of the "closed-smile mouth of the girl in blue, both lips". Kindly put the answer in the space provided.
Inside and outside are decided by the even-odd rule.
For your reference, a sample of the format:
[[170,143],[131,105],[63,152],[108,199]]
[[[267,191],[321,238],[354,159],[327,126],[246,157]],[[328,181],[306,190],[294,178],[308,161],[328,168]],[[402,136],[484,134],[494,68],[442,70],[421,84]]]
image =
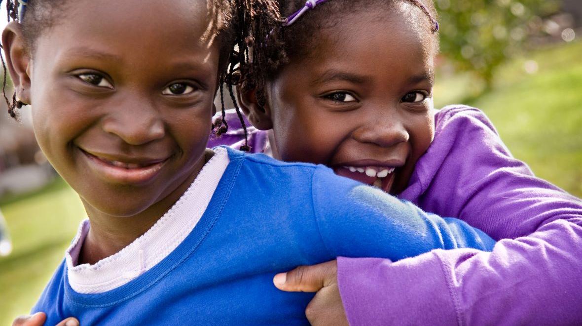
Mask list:
[[134,160],[133,162],[123,162],[120,160],[106,159],[105,157],[88,153],[80,149],[91,170],[98,176],[112,183],[137,184],[145,183],[154,178],[162,166],[168,161],[166,159],[155,160]]

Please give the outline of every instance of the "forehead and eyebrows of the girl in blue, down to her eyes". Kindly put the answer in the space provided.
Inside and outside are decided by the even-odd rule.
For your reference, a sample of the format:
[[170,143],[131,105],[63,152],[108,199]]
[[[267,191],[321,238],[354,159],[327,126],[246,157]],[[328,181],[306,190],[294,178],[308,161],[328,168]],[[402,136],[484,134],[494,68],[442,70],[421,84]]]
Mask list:
[[197,2],[75,1],[74,11],[38,37],[35,66],[143,78],[184,71],[217,79],[219,40],[207,37],[209,11]]

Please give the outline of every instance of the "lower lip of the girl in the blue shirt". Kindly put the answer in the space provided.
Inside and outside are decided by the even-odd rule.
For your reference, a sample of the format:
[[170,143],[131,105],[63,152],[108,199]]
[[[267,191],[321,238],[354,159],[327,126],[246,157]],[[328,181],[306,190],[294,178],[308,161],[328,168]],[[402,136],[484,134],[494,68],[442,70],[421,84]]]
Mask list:
[[139,167],[137,169],[125,169],[124,167],[114,166],[98,159],[97,156],[84,152],[90,168],[99,176],[112,183],[119,184],[140,184],[152,180],[164,166],[167,160],[151,164],[149,166]]

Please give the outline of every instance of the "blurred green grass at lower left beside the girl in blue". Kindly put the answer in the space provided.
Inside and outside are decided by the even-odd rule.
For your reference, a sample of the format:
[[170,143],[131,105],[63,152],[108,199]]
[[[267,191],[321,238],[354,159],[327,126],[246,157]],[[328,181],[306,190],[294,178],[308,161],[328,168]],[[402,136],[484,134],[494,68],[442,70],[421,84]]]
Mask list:
[[3,201],[13,251],[0,258],[0,325],[26,314],[51,278],[73,239],[84,209],[59,179],[27,198]]

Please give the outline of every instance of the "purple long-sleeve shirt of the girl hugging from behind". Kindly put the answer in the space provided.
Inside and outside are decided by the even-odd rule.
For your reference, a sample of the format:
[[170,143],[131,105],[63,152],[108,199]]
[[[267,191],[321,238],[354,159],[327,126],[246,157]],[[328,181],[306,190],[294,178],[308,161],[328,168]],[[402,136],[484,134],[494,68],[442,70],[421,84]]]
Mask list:
[[[229,121],[211,146],[240,141],[240,123]],[[250,145],[268,148],[266,132],[251,128]],[[500,241],[491,253],[338,258],[350,324],[582,323],[582,201],[534,177],[481,111],[437,113],[434,142],[399,197]]]

